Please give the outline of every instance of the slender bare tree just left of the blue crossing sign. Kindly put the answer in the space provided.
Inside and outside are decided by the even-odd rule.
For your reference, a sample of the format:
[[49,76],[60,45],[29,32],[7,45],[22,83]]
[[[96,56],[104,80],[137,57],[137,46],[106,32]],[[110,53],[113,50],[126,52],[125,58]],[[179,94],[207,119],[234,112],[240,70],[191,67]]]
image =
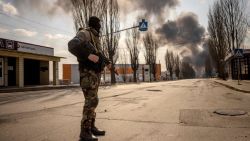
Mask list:
[[138,29],[133,28],[132,30],[127,31],[126,45],[129,51],[134,82],[137,82],[136,71],[138,70],[139,67],[139,53],[140,53],[139,39],[140,39],[140,32]]

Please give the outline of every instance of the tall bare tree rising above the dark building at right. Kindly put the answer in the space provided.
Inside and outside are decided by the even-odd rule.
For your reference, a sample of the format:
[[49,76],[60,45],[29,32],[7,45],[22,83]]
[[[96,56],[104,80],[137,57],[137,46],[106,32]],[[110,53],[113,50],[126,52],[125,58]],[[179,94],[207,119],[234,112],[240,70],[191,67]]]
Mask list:
[[224,25],[228,50],[242,48],[247,33],[247,0],[220,0],[218,4]]

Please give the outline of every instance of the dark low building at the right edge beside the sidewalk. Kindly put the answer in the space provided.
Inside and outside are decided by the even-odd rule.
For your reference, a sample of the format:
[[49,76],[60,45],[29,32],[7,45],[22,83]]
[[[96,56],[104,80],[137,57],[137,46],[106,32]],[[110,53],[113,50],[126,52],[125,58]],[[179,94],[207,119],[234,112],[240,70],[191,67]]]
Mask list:
[[245,49],[243,55],[244,57],[239,59],[232,54],[226,57],[226,70],[230,79],[238,79],[239,72],[241,80],[250,80],[250,49]]

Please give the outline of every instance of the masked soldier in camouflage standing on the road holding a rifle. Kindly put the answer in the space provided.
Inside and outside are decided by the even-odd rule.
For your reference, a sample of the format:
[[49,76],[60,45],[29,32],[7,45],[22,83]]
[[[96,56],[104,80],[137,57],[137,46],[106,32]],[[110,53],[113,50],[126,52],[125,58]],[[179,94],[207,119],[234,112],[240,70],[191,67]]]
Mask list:
[[[101,28],[100,19],[95,16],[90,17],[88,25],[89,28],[87,29],[79,29],[77,37],[84,42],[91,43],[95,50],[101,52],[102,50],[99,39]],[[83,55],[86,57],[86,60],[91,61],[91,63],[98,63],[98,61],[100,61],[99,56],[88,53],[88,51],[86,51]],[[80,85],[85,98],[81,120],[80,141],[97,141],[98,138],[96,138],[95,135],[105,135],[105,131],[98,129],[95,126],[95,109],[99,101],[97,92],[100,84],[101,73],[91,69],[91,66],[87,63],[87,61],[78,60]],[[110,64],[105,65],[110,68]]]

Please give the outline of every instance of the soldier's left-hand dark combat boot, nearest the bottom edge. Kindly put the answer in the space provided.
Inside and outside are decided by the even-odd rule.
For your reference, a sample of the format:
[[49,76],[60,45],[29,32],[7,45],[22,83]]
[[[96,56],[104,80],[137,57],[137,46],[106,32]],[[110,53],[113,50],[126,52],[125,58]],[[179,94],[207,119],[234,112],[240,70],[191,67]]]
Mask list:
[[[85,121],[89,122],[89,121]],[[91,132],[91,123],[85,123],[81,126],[80,140],[79,141],[98,141],[98,138]],[[86,126],[87,125],[87,126]],[[89,125],[89,126],[88,126]]]

